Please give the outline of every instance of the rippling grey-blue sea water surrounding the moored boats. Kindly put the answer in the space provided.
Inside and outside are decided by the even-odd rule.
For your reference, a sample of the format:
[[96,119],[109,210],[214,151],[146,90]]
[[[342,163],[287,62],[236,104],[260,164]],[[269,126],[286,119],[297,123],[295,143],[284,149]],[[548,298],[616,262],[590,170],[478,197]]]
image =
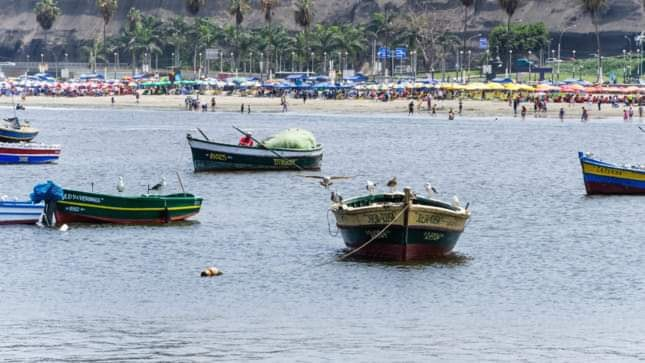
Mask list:
[[[9,114],[8,109],[0,110]],[[644,162],[638,122],[417,115],[29,109],[58,164],[1,166],[34,184],[204,197],[167,226],[2,227],[2,361],[645,360],[645,197],[587,197],[579,150]],[[329,194],[295,172],[192,172],[185,135],[314,132],[345,197],[365,181],[471,202],[456,256],[337,261]],[[330,218],[332,218],[330,216]],[[332,220],[333,223],[333,220]],[[333,229],[333,226],[332,226]],[[224,274],[200,278],[207,266]]]

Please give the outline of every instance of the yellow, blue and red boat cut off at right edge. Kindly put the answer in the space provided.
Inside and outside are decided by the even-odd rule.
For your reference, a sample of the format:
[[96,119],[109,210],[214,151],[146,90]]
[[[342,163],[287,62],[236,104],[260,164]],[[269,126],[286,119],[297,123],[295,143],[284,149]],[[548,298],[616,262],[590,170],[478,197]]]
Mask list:
[[588,195],[645,194],[645,166],[617,165],[578,152]]

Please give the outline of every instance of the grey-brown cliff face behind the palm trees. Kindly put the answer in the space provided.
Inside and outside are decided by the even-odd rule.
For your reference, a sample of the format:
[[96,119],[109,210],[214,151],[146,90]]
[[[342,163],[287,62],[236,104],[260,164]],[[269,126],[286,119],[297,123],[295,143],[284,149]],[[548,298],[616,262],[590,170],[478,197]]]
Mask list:
[[[44,37],[33,13],[37,0],[0,0],[0,60],[19,58],[24,54],[38,54],[38,46]],[[259,10],[259,0],[250,1],[253,11],[244,21],[244,26],[257,27],[264,24]],[[282,0],[276,10],[274,22],[289,29],[297,30],[293,17],[295,0]],[[51,29],[50,43],[67,44],[68,48],[98,37],[103,30],[103,20],[98,13],[95,0],[58,0],[63,15]],[[645,30],[641,0],[611,0],[610,6],[601,20],[602,37],[605,49],[620,51],[628,47],[624,35],[640,33]],[[462,27],[462,6],[458,0],[315,0],[315,21],[327,23],[367,22],[371,14],[382,11],[391,4],[400,13],[411,11],[434,11],[442,18],[450,20],[451,31],[459,32]],[[231,23],[233,19],[227,12],[228,0],[207,0],[206,7],[199,16],[213,17],[220,23]],[[144,14],[159,17],[183,15],[188,17],[184,0],[120,0],[119,9],[108,25],[108,32],[117,32],[131,7],[139,8]],[[496,0],[479,0],[476,13],[472,18],[472,34],[487,33],[492,27],[503,23],[506,15]],[[553,37],[568,29],[564,35],[565,49],[576,47],[592,52],[593,26],[589,17],[583,14],[579,0],[524,0],[513,20],[516,22],[537,22],[547,24]],[[557,44],[557,39],[554,40]],[[586,48],[586,49],[585,49]],[[67,51],[67,50],[65,50]],[[74,53],[73,49],[69,50]]]

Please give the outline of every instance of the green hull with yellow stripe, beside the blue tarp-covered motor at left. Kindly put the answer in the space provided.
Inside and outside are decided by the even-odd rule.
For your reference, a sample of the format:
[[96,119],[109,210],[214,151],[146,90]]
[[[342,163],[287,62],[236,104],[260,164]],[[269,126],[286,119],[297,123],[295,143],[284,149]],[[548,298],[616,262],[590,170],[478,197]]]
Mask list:
[[57,224],[165,224],[188,219],[201,209],[201,198],[190,194],[120,197],[65,190],[55,202]]

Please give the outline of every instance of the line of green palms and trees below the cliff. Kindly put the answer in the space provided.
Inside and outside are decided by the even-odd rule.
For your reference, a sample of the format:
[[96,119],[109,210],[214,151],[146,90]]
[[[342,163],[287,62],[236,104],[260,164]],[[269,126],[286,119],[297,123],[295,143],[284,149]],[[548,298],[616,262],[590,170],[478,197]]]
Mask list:
[[[280,0],[257,2],[257,10],[264,16],[264,26],[254,24],[253,27],[244,26],[245,17],[252,10],[249,0],[229,0],[228,13],[233,25],[220,25],[207,17],[159,19],[132,8],[119,32],[107,36],[107,25],[119,2],[97,0],[97,11],[104,21],[103,36],[84,49],[90,63],[113,62],[116,53],[124,63],[127,60],[135,68],[150,64],[153,59],[161,59],[166,66],[199,67],[204,64],[205,49],[217,48],[221,50],[217,67],[228,71],[259,71],[262,62],[265,70],[313,68],[320,72],[328,70],[330,65],[335,69],[346,65],[358,70],[375,60],[378,47],[406,47],[419,57],[421,67],[438,70],[445,69],[446,61],[458,57],[460,51],[466,53],[469,25],[476,16],[472,10],[478,1],[460,0],[464,12],[462,34],[449,32],[450,24],[433,11],[427,1],[416,5],[422,7],[421,11],[408,14],[387,4],[364,24],[323,24],[315,21],[314,0],[296,0],[291,11],[301,31],[293,32],[273,22]],[[542,33],[528,41],[512,39],[512,17],[526,1],[497,1],[507,15],[506,34],[497,28],[491,35],[496,36],[496,45],[503,48],[503,54],[509,49],[522,52],[542,46]],[[595,27],[598,54],[601,54],[600,19],[608,1],[578,1]],[[645,0],[642,2],[645,7]],[[197,16],[208,3],[206,0],[185,0],[185,6],[189,14]],[[48,30],[61,15],[61,10],[56,0],[39,0],[34,12],[45,32],[47,46]],[[519,33],[530,35],[531,29],[520,29]],[[598,62],[600,68],[602,57],[598,57]]]

